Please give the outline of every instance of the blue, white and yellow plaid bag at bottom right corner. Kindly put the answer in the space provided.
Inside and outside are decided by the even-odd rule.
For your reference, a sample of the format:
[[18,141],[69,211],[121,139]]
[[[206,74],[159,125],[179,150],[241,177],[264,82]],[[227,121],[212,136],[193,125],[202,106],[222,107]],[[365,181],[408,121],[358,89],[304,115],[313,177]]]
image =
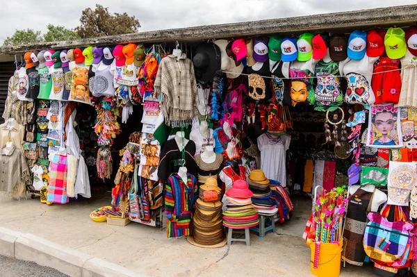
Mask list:
[[376,212],[370,212],[368,219],[363,235],[363,249],[366,255],[376,262],[407,259],[407,251],[410,251],[411,245],[409,231],[414,226],[404,221],[390,222]]

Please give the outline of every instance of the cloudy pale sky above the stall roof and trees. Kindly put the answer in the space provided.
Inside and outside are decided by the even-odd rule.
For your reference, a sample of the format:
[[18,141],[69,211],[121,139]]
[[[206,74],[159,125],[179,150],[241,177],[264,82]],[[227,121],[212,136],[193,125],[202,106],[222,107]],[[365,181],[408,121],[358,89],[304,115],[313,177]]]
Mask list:
[[[110,12],[135,15],[141,32],[407,5],[416,0],[100,0],[96,3],[108,7]],[[33,0],[19,0],[1,4],[0,44],[16,29],[33,28],[45,33],[47,24],[75,28],[79,26],[81,11],[95,7],[94,2],[85,0],[54,3],[37,0],[35,4]]]

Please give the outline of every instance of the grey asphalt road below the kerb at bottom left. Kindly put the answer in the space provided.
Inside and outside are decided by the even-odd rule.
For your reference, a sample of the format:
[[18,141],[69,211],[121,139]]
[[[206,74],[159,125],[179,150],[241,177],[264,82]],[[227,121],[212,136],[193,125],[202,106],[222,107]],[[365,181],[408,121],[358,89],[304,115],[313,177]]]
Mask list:
[[15,260],[0,255],[0,276],[1,277],[69,277],[51,267],[42,267],[36,262]]

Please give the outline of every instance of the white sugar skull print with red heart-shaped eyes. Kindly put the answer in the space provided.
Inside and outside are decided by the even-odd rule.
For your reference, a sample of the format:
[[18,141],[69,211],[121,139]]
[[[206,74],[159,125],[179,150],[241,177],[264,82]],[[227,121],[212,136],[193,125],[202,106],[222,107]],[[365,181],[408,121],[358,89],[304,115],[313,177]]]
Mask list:
[[369,83],[362,75],[350,73],[347,74],[347,92],[345,102],[350,104],[369,105]]

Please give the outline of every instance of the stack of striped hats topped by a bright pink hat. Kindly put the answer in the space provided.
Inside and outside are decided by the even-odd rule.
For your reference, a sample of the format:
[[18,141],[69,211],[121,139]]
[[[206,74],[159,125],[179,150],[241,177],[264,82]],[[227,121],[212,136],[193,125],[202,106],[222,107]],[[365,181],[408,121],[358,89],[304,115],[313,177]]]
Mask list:
[[223,212],[223,225],[232,229],[244,229],[259,224],[259,215],[252,205],[253,193],[243,180],[235,181],[226,192],[227,210]]

